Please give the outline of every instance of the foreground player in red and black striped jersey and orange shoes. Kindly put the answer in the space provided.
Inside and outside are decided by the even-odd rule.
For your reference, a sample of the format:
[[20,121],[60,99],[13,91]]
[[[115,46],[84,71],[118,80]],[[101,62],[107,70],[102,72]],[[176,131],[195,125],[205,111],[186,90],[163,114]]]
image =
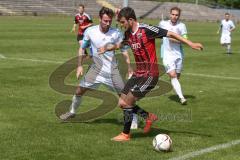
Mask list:
[[[193,43],[182,38],[174,32],[147,24],[139,24],[134,10],[130,7],[121,9],[118,14],[118,21],[126,30],[125,39],[122,43],[131,47],[136,61],[136,70],[127,81],[118,102],[124,114],[123,131],[112,140],[128,141],[130,140],[133,113],[137,113],[145,119],[144,133],[148,133],[152,123],[157,120],[155,114],[146,112],[135,105],[136,101],[143,98],[158,82],[159,70],[155,39],[162,37],[175,38],[196,50],[202,50],[203,46],[200,43]],[[121,45],[111,44],[106,45],[104,48],[105,50],[113,50],[118,49]]]

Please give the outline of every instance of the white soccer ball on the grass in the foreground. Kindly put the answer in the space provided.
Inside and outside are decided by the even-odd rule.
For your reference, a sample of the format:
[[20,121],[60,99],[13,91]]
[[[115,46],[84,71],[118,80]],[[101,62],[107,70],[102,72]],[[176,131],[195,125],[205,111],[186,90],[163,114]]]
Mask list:
[[169,151],[172,140],[167,134],[158,134],[153,139],[153,147],[156,151]]

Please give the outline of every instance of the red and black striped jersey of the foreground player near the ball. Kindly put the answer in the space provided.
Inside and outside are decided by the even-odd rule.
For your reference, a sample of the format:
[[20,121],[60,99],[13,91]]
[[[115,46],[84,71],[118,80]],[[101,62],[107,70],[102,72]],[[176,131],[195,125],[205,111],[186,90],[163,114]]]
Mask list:
[[136,32],[125,32],[124,43],[132,48],[136,70],[136,76],[158,76],[158,61],[155,48],[155,38],[167,36],[168,30],[150,26],[147,24],[138,24]]

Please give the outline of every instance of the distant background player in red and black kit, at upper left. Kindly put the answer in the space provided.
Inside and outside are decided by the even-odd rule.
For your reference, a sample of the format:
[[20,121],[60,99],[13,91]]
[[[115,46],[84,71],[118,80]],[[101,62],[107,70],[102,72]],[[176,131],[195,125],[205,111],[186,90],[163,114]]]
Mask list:
[[[77,32],[77,41],[79,45],[82,45],[83,33],[84,31],[93,24],[91,17],[85,13],[85,7],[83,4],[78,6],[78,13],[75,15],[74,24],[71,32]],[[79,47],[80,50],[80,47]],[[85,50],[85,54],[87,55],[87,51]]]

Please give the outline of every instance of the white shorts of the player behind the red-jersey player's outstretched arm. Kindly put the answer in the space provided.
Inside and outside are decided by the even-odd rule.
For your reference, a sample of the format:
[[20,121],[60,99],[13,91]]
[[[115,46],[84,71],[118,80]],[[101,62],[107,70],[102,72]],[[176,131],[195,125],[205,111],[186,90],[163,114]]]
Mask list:
[[166,73],[175,70],[177,73],[181,73],[183,67],[182,58],[163,59],[163,65]]

